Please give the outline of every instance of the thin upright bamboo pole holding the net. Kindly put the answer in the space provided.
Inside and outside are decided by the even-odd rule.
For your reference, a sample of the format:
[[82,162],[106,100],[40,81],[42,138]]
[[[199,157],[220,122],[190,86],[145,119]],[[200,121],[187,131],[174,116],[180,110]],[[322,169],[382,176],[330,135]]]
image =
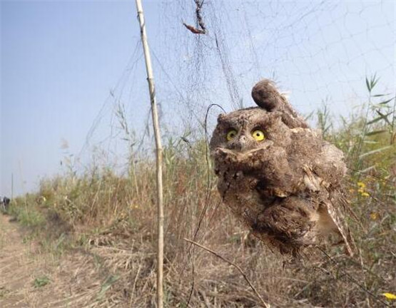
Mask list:
[[157,247],[157,307],[163,308],[163,187],[162,187],[162,145],[158,110],[156,103],[156,91],[154,86],[153,68],[151,66],[150,49],[146,36],[146,24],[143,16],[141,0],[136,0],[136,9],[141,27],[141,40],[143,43],[144,57],[146,59],[146,71],[148,91],[150,92],[151,115],[153,116],[154,136],[156,139],[156,168],[157,168],[157,207],[158,207],[158,247]]

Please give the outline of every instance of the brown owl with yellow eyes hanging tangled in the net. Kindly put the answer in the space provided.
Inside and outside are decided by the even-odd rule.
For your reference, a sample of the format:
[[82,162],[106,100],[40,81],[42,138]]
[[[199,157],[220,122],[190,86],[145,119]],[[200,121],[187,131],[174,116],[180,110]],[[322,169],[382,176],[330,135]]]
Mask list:
[[252,96],[259,107],[220,114],[210,140],[223,202],[281,253],[298,255],[335,232],[352,255],[342,152],[308,127],[273,82],[260,81]]

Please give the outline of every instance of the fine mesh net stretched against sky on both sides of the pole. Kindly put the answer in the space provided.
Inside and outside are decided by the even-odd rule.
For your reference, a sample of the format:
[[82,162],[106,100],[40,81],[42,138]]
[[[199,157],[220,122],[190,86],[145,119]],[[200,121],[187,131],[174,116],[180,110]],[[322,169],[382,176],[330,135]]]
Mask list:
[[[393,1],[204,1],[208,33],[200,35],[183,26],[198,26],[195,1],[147,3],[145,9],[165,138],[202,138],[212,103],[225,111],[253,106],[250,91],[260,78],[275,80],[303,115],[325,103],[330,113],[347,116],[367,100],[365,78],[374,74],[380,93],[395,93]],[[131,59],[87,135],[81,161],[101,147],[122,169],[131,144],[153,149],[144,58],[140,37],[134,39]],[[209,116],[209,132],[216,116]]]

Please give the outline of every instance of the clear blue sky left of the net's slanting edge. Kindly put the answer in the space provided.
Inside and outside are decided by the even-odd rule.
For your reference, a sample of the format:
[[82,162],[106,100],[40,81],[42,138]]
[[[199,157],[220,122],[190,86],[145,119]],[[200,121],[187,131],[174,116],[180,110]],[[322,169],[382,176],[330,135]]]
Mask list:
[[11,173],[21,193],[59,170],[62,140],[71,153],[81,148],[138,37],[134,9],[1,3],[1,192]]

